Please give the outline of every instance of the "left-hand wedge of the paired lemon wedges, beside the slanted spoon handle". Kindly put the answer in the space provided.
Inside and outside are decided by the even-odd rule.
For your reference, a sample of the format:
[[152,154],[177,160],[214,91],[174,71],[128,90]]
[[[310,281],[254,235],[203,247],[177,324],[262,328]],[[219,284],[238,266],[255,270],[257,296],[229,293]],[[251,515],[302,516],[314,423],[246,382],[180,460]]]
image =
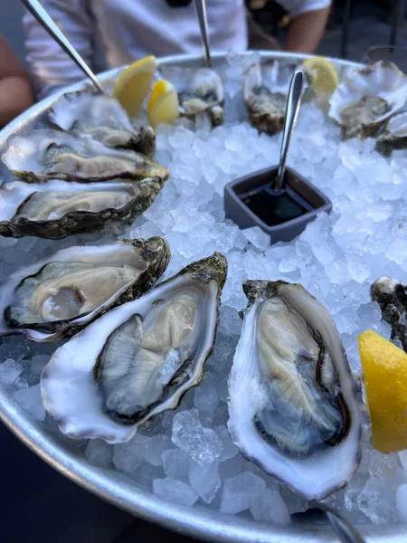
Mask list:
[[122,71],[113,89],[117,98],[130,117],[135,117],[153,84],[157,69],[156,57],[148,56],[133,62]]

